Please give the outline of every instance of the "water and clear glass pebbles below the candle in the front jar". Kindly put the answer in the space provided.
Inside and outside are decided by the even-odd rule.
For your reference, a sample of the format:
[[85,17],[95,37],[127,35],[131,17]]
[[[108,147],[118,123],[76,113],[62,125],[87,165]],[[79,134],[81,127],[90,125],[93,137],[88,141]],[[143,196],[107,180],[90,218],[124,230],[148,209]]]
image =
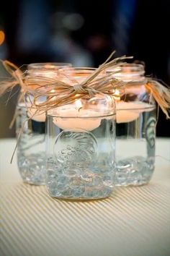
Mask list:
[[[47,119],[53,121],[51,116]],[[115,128],[111,124],[112,119],[102,119],[92,132],[61,130],[56,140],[50,140],[46,182],[50,196],[88,200],[111,194],[115,187],[115,147],[110,140]]]

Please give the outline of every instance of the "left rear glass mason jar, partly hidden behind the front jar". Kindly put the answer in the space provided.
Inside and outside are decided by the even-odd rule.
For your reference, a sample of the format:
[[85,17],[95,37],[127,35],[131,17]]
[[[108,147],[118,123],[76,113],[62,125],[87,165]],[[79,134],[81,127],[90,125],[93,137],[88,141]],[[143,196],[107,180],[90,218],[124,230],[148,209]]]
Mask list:
[[[30,64],[27,67],[27,73],[32,78],[55,78],[57,77],[58,69],[63,67],[71,67],[71,64]],[[44,98],[42,97],[40,101],[43,100]],[[27,103],[27,107],[29,107],[29,103]],[[24,121],[31,117],[32,114],[32,110],[26,108],[23,102],[17,104],[17,135],[19,135]],[[45,113],[33,116],[32,119],[29,119],[24,124],[17,146],[17,164],[24,182],[36,185],[45,184]]]

